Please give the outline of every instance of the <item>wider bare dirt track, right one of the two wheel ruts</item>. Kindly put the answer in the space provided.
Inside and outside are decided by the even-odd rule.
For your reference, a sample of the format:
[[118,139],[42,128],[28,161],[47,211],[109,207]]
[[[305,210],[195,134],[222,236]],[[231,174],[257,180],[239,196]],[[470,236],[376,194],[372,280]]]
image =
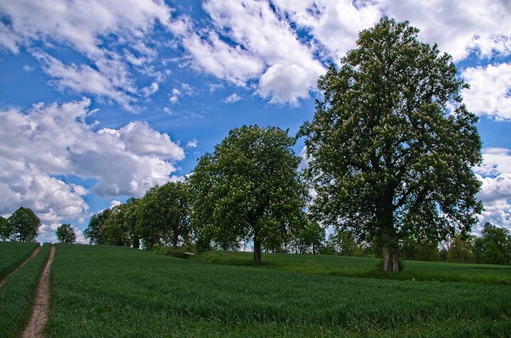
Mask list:
[[52,246],[50,257],[46,263],[43,274],[41,274],[39,285],[35,293],[34,304],[32,308],[31,319],[21,334],[22,338],[42,338],[43,329],[48,317],[48,298],[50,298],[50,270],[55,257],[55,246]]

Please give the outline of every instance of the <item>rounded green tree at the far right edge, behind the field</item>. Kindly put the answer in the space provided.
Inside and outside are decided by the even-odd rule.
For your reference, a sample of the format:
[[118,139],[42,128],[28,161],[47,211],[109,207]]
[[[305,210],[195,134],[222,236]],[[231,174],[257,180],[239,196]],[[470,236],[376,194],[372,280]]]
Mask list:
[[511,264],[510,231],[486,222],[474,241],[474,252],[478,263]]

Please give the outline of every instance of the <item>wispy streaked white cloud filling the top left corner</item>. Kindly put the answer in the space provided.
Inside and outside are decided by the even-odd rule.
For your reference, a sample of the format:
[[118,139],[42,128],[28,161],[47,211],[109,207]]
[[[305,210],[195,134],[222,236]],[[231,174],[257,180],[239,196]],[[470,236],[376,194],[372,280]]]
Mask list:
[[[158,55],[150,38],[155,25],[180,29],[170,7],[150,0],[1,1],[0,16],[6,18],[0,23],[0,48],[18,53],[44,41],[45,52],[31,51],[58,88],[106,97],[128,110],[138,96],[155,91],[153,85],[138,90],[131,74],[135,67],[156,76],[144,68]],[[62,63],[48,52],[54,43],[72,47],[90,62]]]

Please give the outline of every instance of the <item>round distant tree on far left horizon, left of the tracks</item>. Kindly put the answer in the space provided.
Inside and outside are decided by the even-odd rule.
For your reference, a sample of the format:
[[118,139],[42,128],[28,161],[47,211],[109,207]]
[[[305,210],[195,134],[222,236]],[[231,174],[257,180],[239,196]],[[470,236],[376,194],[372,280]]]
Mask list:
[[9,217],[11,240],[34,242],[38,235],[40,220],[29,208],[19,208]]

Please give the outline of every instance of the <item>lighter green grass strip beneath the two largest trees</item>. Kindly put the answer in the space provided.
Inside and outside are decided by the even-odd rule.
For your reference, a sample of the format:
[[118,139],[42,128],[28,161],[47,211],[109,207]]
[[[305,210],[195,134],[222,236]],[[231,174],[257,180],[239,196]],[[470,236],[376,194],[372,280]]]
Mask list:
[[373,277],[401,281],[462,281],[511,286],[511,266],[456,264],[430,261],[405,261],[399,273],[384,274],[375,269],[375,258],[326,256],[312,254],[263,254],[262,263],[253,263],[251,252],[211,251],[192,258],[194,261],[261,269],[300,272],[328,276]]

